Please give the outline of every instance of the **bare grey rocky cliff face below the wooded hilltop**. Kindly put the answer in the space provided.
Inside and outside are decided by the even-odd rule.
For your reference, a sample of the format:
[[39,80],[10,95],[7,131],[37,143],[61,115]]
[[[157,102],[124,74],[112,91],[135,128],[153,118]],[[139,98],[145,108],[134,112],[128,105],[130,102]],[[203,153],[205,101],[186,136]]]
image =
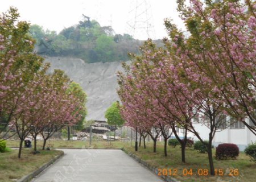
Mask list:
[[86,108],[89,119],[105,120],[105,110],[118,100],[117,71],[122,71],[119,62],[84,63],[81,59],[68,57],[46,57],[51,63],[50,71],[62,69],[75,82],[79,83],[87,94]]

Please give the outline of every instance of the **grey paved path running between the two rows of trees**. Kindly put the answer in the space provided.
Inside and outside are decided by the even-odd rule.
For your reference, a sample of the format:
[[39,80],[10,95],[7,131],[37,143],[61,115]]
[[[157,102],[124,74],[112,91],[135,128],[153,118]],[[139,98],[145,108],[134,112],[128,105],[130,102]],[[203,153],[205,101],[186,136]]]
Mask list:
[[65,149],[63,151],[65,152],[63,158],[32,181],[163,181],[121,150]]

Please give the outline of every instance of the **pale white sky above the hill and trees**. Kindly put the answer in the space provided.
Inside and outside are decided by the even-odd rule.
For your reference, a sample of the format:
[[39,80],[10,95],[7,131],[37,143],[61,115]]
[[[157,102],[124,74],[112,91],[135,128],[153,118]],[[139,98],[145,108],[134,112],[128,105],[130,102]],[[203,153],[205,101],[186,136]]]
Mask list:
[[[148,20],[152,24],[151,27],[154,27],[154,31],[150,30],[150,38],[162,39],[167,36],[163,25],[164,18],[174,19],[178,27],[183,28],[176,11],[176,0],[137,1],[142,3],[137,9],[138,14],[143,13],[146,9],[144,2],[147,2],[147,7],[149,7],[148,17],[150,18]],[[14,6],[18,8],[21,20],[39,24],[44,29],[59,32],[64,27],[77,24],[84,14],[97,20],[101,26],[112,25],[116,34],[133,35],[127,22],[134,23],[135,11],[131,10],[135,10],[136,0],[1,0],[0,2],[0,12],[5,12],[10,6]],[[137,21],[146,21],[144,17],[146,17],[146,13],[143,16],[138,16]],[[143,27],[146,27],[146,23]],[[147,39],[146,28],[137,28],[134,36],[137,39]]]

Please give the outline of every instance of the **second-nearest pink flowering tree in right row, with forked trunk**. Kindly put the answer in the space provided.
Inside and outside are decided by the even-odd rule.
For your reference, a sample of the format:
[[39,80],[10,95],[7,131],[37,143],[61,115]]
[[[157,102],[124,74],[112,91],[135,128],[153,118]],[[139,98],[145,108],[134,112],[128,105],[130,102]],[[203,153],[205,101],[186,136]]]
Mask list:
[[[140,69],[142,74],[137,74],[135,77],[142,78],[143,92],[151,97],[151,104],[155,109],[154,116],[163,120],[165,128],[171,127],[179,140],[182,161],[185,162],[187,130],[191,119],[196,114],[193,109],[199,102],[196,102],[196,97],[194,102],[191,100],[193,90],[188,89],[189,83],[181,82],[179,76],[181,68],[175,66],[179,59],[171,55],[172,49],[170,51],[167,49],[170,49],[168,42],[165,49],[156,48],[150,40],[146,42],[142,48],[142,56],[137,56],[136,61],[136,68]],[[184,139],[179,138],[176,127],[185,130]]]

